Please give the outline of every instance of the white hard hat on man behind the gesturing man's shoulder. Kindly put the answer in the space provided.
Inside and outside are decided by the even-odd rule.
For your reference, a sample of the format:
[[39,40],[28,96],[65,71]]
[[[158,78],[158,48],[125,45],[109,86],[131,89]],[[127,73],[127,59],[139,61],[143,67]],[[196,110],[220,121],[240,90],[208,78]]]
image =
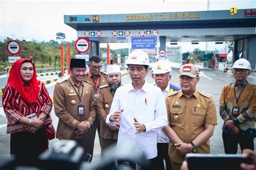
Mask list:
[[163,74],[167,72],[171,72],[171,64],[169,60],[159,60],[153,67],[152,73],[153,74]]

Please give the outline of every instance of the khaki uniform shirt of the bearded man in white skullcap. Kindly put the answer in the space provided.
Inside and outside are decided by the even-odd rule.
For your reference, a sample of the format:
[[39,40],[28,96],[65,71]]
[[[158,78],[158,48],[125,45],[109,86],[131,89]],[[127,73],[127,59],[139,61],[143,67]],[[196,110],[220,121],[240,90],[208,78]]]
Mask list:
[[106,124],[106,116],[109,114],[114,93],[109,85],[100,86],[99,97],[95,100],[95,107],[100,119],[100,137],[117,140],[118,131],[110,130],[109,125]]

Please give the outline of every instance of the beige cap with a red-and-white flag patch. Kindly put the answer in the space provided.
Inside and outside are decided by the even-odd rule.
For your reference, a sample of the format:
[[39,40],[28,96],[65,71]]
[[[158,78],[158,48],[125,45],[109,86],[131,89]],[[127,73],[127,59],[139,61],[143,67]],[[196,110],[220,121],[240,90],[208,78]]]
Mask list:
[[199,70],[197,69],[197,66],[194,64],[184,64],[179,69],[178,76],[189,76],[189,77],[197,77],[199,76]]

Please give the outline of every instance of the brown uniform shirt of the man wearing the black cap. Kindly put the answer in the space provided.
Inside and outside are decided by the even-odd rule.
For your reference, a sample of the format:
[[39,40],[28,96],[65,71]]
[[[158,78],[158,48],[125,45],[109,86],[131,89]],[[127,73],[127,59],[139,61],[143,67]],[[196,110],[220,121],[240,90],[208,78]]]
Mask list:
[[[84,105],[84,115],[78,115],[78,105],[80,99],[76,91],[73,89],[70,81],[75,87],[77,93],[81,95],[82,89],[82,105]],[[81,121],[87,120],[93,124],[96,112],[93,99],[92,86],[87,81],[82,81],[82,85],[77,87],[69,77],[57,82],[53,92],[55,114],[59,118],[56,138],[58,139],[84,139],[89,138],[91,130],[87,133],[76,135],[75,131]]]

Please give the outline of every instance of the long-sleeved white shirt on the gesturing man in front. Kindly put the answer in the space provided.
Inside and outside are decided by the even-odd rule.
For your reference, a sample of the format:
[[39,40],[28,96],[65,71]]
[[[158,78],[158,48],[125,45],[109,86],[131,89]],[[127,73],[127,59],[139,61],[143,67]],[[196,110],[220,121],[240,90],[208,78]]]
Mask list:
[[[163,94],[159,87],[144,83],[142,89],[136,91],[132,83],[121,86],[114,94],[110,108],[110,114],[106,117],[106,123],[110,122],[111,115],[124,109],[120,117],[117,146],[124,141],[136,142],[146,155],[146,159],[157,157],[157,130],[167,126],[167,112]],[[135,134],[133,125],[136,118],[140,124],[144,124],[146,132]]]

